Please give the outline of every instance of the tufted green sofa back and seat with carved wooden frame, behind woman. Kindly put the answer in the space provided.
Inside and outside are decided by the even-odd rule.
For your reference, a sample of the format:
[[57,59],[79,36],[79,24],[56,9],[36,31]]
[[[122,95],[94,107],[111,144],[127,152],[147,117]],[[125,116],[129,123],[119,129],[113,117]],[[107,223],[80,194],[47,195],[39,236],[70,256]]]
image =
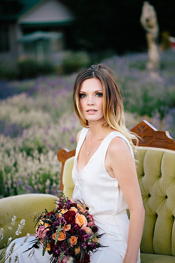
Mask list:
[[[145,223],[140,246],[142,263],[175,263],[175,141],[168,132],[157,131],[146,121],[132,129],[143,139],[137,152],[138,181],[145,208]],[[61,190],[72,197],[71,172],[75,150],[61,149]]]

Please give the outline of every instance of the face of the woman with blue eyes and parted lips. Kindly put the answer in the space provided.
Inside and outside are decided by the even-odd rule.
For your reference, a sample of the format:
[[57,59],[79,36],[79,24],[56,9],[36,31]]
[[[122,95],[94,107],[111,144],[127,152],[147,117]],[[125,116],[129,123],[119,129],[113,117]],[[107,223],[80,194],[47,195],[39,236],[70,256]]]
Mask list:
[[79,103],[83,117],[90,124],[91,121],[102,120],[103,114],[103,87],[100,79],[85,79],[79,90]]

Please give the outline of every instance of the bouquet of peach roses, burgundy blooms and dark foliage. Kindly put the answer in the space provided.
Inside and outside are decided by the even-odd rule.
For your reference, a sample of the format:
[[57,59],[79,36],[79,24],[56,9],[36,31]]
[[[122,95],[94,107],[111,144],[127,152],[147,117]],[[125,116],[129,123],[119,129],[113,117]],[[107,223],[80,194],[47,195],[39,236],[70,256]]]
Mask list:
[[50,263],[65,263],[70,257],[75,263],[88,263],[91,252],[102,247],[97,240],[102,235],[98,235],[88,208],[80,201],[72,203],[59,192],[58,207],[36,215],[36,239],[31,248],[42,244],[43,256],[46,251],[51,255]]

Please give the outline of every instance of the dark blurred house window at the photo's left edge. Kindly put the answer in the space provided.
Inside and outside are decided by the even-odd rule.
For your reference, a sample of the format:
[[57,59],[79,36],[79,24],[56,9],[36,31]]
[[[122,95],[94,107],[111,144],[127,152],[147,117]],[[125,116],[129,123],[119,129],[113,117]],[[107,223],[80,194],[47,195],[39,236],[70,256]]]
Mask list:
[[9,32],[7,25],[0,26],[0,52],[8,52],[10,49],[9,46]]

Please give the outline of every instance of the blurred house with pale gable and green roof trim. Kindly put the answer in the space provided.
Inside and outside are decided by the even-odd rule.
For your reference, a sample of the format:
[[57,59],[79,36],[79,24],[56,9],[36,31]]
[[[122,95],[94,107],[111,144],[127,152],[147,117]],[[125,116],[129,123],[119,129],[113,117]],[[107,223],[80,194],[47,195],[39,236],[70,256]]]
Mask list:
[[66,49],[73,20],[58,0],[1,0],[0,58],[56,59]]

